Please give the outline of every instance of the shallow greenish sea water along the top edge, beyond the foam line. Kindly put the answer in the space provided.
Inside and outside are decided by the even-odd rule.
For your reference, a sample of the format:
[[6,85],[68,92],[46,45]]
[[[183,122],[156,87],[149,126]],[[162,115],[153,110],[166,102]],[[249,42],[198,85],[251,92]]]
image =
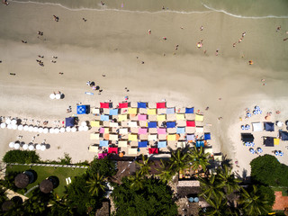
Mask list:
[[58,4],[69,10],[124,10],[143,13],[224,13],[238,18],[288,18],[288,0],[11,0]]

